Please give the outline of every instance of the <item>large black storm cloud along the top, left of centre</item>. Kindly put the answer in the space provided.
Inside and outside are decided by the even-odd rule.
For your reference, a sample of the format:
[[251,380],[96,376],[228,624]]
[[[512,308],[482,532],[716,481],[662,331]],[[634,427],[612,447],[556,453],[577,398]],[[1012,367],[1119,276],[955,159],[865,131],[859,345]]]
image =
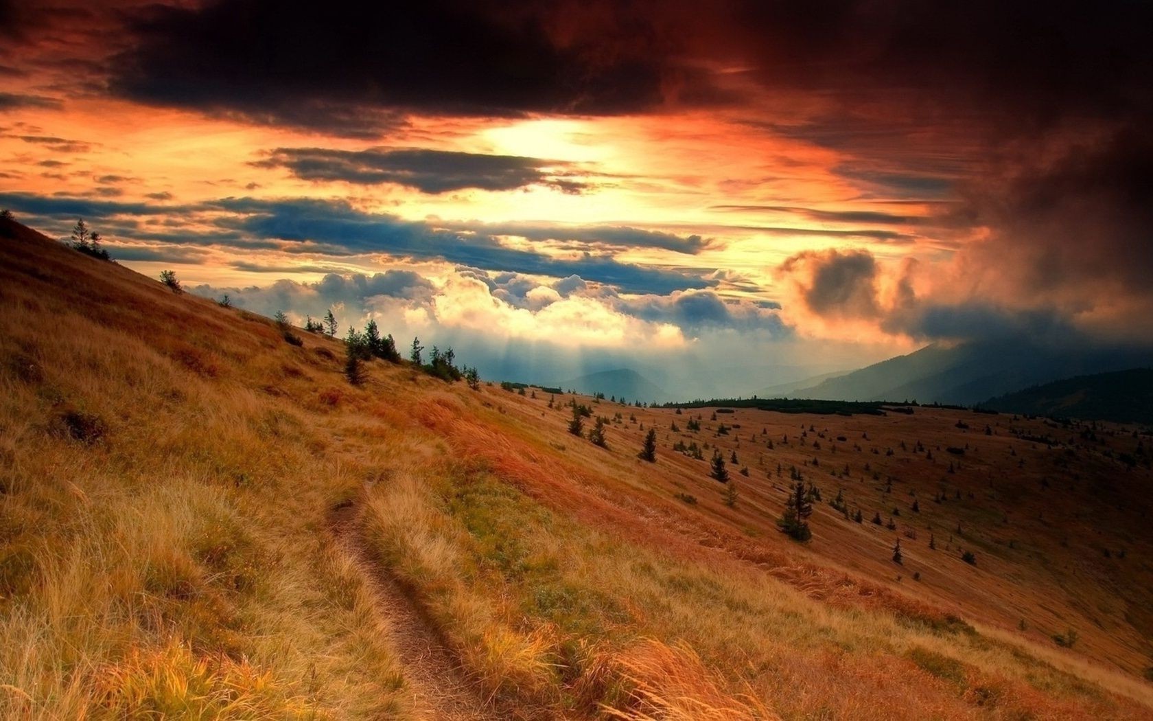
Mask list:
[[273,0],[152,7],[136,47],[113,62],[114,93],[231,112],[257,122],[372,136],[390,111],[449,115],[616,114],[661,102],[662,84],[699,74],[655,52],[650,28],[611,24],[553,42],[550,3]]

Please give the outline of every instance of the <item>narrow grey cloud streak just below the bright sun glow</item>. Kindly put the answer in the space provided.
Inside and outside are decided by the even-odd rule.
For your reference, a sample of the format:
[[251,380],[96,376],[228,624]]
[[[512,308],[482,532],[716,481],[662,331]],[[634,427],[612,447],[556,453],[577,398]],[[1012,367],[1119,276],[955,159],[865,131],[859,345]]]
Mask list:
[[[325,148],[278,148],[255,165],[285,167],[304,180],[345,181],[357,185],[393,183],[421,193],[447,193],[465,188],[514,190],[528,186],[551,186],[579,191],[582,183],[562,180],[556,170],[566,164],[526,158],[445,150],[369,149],[360,151]],[[555,168],[550,172],[548,168]]]

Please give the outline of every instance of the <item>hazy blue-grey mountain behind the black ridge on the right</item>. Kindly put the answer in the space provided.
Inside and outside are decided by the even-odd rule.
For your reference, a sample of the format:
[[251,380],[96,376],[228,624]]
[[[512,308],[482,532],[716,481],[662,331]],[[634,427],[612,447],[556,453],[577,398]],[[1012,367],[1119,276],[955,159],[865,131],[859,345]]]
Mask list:
[[917,400],[975,405],[1023,388],[1078,374],[1144,366],[1144,348],[1069,348],[1026,338],[928,345],[793,393],[837,400]]

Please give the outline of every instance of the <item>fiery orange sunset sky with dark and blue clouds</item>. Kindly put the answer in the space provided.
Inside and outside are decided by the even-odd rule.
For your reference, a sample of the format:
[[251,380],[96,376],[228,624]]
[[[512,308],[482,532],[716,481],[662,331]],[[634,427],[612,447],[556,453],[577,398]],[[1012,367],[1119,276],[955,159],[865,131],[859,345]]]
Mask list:
[[0,0],[0,206],[488,377],[1153,343],[1153,5]]

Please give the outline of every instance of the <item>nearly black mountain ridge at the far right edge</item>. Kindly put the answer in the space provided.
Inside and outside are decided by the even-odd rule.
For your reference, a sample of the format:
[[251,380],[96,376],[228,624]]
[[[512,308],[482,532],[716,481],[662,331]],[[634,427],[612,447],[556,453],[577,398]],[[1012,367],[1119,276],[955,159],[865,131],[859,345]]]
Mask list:
[[1063,378],[989,398],[981,405],[1050,418],[1153,423],[1153,368]]

